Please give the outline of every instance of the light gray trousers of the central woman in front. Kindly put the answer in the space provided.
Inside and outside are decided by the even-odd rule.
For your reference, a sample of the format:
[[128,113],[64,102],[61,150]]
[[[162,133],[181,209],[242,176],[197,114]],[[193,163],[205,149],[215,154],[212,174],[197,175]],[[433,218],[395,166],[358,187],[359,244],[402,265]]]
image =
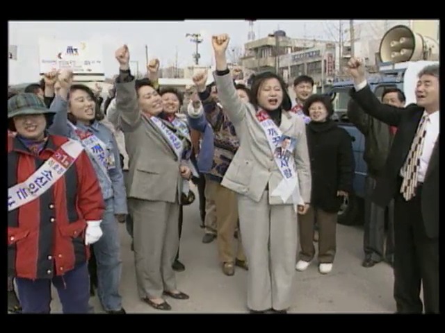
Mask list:
[[243,246],[249,262],[248,308],[264,311],[292,305],[297,252],[297,214],[293,205],[269,205],[238,195]]

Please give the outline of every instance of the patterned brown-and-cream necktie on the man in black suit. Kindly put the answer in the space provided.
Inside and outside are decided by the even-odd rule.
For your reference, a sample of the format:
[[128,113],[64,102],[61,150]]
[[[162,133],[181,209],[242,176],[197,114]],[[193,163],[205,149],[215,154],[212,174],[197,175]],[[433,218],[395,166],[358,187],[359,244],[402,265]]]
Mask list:
[[403,182],[401,186],[401,194],[403,194],[405,200],[411,200],[416,195],[417,174],[420,167],[423,143],[425,142],[427,121],[428,114],[423,114],[416,135],[412,140],[410,152],[408,153],[402,168]]

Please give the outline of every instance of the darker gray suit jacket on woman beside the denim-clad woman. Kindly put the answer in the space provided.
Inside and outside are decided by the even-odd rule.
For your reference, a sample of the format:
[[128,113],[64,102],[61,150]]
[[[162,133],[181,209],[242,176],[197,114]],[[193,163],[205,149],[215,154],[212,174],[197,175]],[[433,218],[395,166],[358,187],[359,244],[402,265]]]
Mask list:
[[130,82],[119,80],[116,82],[116,109],[129,155],[127,196],[177,203],[182,191],[181,161],[158,128],[140,112],[134,79]]

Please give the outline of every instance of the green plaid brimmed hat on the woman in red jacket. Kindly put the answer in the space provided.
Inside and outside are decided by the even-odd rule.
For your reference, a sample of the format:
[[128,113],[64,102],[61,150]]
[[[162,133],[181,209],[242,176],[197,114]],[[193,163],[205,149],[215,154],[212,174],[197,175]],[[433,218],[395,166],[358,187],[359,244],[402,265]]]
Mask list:
[[8,119],[22,114],[54,113],[36,94],[17,94],[8,99]]

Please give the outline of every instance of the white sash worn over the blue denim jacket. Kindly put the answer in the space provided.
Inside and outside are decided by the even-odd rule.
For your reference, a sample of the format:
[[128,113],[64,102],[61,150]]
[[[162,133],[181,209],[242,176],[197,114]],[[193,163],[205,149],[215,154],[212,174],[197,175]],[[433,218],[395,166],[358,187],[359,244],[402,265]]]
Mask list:
[[70,121],[68,121],[74,133],[79,137],[81,145],[85,148],[88,156],[92,157],[95,160],[96,164],[101,169],[102,173],[111,182],[110,177],[108,176],[108,169],[115,168],[115,158],[113,153],[108,154],[106,149],[106,144],[102,142],[94,133],[91,133],[88,130],[80,130],[76,126],[74,126]]

